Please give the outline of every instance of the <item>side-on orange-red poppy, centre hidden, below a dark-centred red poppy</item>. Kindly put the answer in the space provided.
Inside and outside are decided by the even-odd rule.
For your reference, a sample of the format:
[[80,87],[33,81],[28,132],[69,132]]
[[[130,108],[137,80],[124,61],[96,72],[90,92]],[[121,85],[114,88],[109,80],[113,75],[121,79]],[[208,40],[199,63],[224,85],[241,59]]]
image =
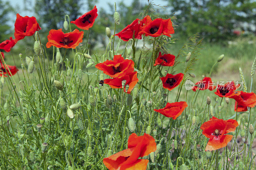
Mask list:
[[175,120],[181,115],[186,107],[188,107],[188,104],[186,102],[174,102],[167,103],[163,109],[154,109],[154,111]]

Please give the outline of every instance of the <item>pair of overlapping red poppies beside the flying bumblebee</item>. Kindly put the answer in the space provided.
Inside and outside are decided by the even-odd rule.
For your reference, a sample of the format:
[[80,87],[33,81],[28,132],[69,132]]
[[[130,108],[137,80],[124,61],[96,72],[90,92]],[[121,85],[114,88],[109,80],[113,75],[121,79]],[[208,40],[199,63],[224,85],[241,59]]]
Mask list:
[[103,73],[113,77],[114,79],[105,79],[104,83],[108,84],[111,88],[122,88],[122,81],[126,80],[126,84],[129,85],[129,89],[125,92],[131,93],[134,86],[139,79],[137,78],[137,72],[134,71],[134,62],[129,59],[124,59],[122,55],[115,55],[113,60],[107,60],[103,63],[99,63],[95,66]]

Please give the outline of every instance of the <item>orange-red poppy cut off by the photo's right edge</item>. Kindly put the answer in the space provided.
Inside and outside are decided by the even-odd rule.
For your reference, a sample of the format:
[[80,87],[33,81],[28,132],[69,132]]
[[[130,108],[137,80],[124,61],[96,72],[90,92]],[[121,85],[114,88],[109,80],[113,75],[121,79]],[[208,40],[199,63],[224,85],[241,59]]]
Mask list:
[[255,93],[246,93],[243,91],[236,91],[229,98],[233,98],[239,105],[246,107],[254,107],[256,105],[256,95]]

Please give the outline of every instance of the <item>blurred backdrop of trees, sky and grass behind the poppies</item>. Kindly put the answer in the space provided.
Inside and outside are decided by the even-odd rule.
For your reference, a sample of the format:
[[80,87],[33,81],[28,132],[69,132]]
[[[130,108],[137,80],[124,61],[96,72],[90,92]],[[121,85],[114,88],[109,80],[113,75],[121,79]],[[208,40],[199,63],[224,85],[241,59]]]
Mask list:
[[[66,14],[69,15],[70,20],[75,20],[83,13],[90,11],[94,5],[102,2],[102,0],[24,0],[19,1],[18,5],[13,5],[13,2],[10,4],[8,0],[0,0],[0,42],[9,39],[10,36],[14,37],[16,13],[36,17],[42,27],[40,35],[42,43],[45,44],[50,29],[63,28]],[[153,18],[154,16],[169,18],[173,15],[177,18],[173,20],[177,26],[175,26],[175,34],[172,35],[176,40],[169,49],[173,55],[178,54],[189,36],[199,33],[204,39],[200,60],[194,66],[198,68],[193,72],[196,74],[196,81],[201,79],[202,74],[209,74],[212,65],[221,54],[224,54],[225,58],[214,68],[213,80],[214,77],[226,81],[239,80],[239,66],[243,69],[245,77],[250,75],[256,47],[255,0],[133,0],[129,3],[117,0],[117,11],[121,14],[121,22],[116,27],[116,33],[134,19],[141,19],[148,2],[151,3],[148,13],[151,13]],[[96,51],[101,54],[105,50],[108,43],[108,37],[105,35],[106,27],[110,27],[112,34],[114,33],[114,1],[109,0],[106,4],[108,5],[104,8],[98,7],[99,16],[90,31],[91,54]],[[77,27],[71,24],[71,29],[75,28]],[[63,31],[69,32],[64,29]],[[87,36],[86,30],[81,31],[84,31],[84,36]],[[21,67],[18,54],[22,53],[25,57],[24,47],[32,49],[34,42],[32,39],[33,37],[26,37],[12,49],[14,58],[17,58],[18,68]],[[139,45],[140,43],[138,47]],[[52,56],[52,49],[47,49],[47,53]],[[6,62],[12,65],[12,58],[7,57],[8,55],[11,54],[5,53]],[[185,59],[180,58],[180,60]]]

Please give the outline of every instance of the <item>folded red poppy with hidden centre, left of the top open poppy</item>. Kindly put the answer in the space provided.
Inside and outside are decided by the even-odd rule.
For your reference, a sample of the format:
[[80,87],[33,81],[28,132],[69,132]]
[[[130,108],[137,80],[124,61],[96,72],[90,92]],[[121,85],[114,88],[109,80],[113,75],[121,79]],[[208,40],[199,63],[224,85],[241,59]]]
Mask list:
[[131,24],[126,26],[121,32],[117,33],[116,36],[121,38],[123,41],[129,41],[129,39],[132,38],[134,34],[134,38],[141,39],[140,32],[140,26],[141,23],[139,23],[140,19],[135,19]]

